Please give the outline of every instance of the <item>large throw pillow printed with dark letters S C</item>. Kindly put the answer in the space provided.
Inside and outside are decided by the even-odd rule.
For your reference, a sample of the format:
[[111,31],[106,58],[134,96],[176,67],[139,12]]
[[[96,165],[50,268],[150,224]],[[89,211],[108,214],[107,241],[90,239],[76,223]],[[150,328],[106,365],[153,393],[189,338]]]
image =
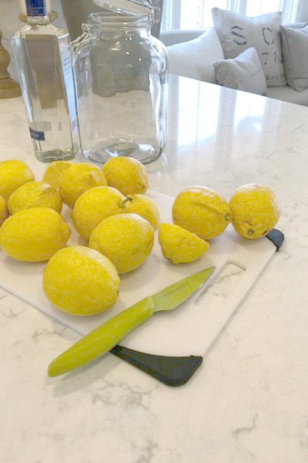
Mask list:
[[247,48],[257,50],[268,87],[286,84],[279,34],[281,12],[248,17],[212,8],[213,21],[225,58],[235,58]]

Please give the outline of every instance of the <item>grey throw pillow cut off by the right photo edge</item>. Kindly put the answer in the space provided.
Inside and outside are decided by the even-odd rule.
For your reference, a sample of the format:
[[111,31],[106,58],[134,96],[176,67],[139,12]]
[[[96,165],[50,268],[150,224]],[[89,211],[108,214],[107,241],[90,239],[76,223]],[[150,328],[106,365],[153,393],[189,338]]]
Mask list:
[[286,81],[301,92],[308,87],[308,24],[298,29],[280,26]]

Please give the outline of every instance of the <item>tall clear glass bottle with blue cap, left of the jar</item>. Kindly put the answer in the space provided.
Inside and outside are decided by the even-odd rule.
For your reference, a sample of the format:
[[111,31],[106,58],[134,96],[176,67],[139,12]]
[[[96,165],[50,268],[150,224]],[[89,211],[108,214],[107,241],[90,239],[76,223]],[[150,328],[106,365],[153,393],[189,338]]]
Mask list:
[[34,153],[43,162],[71,159],[79,131],[69,33],[53,26],[45,0],[26,0],[27,24],[12,35]]

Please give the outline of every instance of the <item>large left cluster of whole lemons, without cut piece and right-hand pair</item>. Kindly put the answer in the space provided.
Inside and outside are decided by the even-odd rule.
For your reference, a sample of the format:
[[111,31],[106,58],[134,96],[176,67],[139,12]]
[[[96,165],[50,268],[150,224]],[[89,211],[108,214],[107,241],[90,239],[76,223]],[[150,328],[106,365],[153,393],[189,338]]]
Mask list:
[[[43,289],[68,313],[93,315],[118,298],[120,275],[149,256],[159,223],[143,164],[110,158],[102,168],[57,161],[35,180],[27,164],[0,163],[0,246],[23,262],[44,262]],[[71,219],[81,245],[69,245]]]

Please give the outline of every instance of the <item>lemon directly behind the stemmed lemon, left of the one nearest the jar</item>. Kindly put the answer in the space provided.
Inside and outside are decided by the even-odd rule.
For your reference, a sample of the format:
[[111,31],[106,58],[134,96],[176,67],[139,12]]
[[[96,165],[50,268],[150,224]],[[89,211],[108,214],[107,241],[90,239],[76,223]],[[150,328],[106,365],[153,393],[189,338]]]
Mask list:
[[63,202],[73,207],[82,193],[99,185],[107,185],[107,181],[98,166],[78,163],[72,164],[62,172],[58,185]]

